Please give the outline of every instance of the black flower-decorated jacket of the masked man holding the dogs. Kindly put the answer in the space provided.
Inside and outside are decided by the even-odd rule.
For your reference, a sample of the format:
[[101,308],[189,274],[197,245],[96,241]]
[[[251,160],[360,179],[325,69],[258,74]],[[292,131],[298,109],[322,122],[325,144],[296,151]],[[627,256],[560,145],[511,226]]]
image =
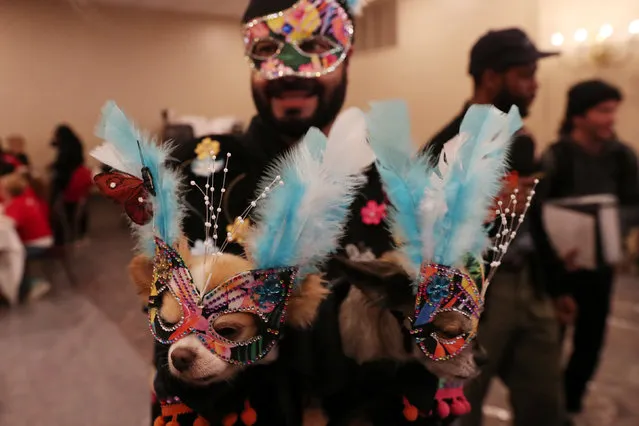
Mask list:
[[[264,170],[288,148],[259,117],[252,120],[242,136],[216,135],[179,146],[173,157],[186,175],[188,192],[185,200],[189,211],[184,230],[190,241],[193,243],[204,238],[202,194],[189,185],[190,181],[196,181],[204,187],[207,182],[206,173],[200,171],[198,174],[205,165],[204,160],[198,160],[198,153],[202,153],[203,158],[213,151],[219,161],[217,169],[223,168],[227,153],[232,154],[226,195],[218,218],[218,241],[224,241],[227,231],[233,229],[235,218],[255,199],[258,188],[262,187]],[[221,175],[216,173],[216,188],[221,184]],[[352,204],[340,245],[340,254],[351,259],[370,260],[391,250],[393,245],[384,224],[388,202],[376,169],[371,166],[366,176],[368,181]],[[214,206],[217,206],[219,190],[216,189],[215,195]],[[241,242],[241,239],[241,233],[235,235],[236,241]],[[241,253],[242,248],[231,243],[225,251]],[[330,265],[327,265],[326,272],[329,279],[335,277]],[[157,398],[171,400],[177,395],[180,402],[197,413],[179,416],[177,420],[182,426],[199,426],[195,422],[198,415],[211,426],[298,426],[302,424],[301,410],[311,399],[322,402],[331,425],[348,424],[348,419],[353,416],[368,417],[375,421],[374,424],[384,426],[438,424],[427,423],[424,419],[418,423],[407,423],[402,414],[404,397],[411,399],[411,403],[423,413],[429,413],[432,408],[437,379],[424,367],[417,363],[399,365],[393,361],[357,366],[343,354],[338,313],[350,285],[337,280],[333,287],[333,293],[321,306],[311,330],[285,328],[276,362],[251,366],[228,383],[195,388],[176,381],[167,369],[168,348],[156,345]],[[256,422],[242,420],[247,408],[256,412]],[[162,417],[164,422],[171,420],[171,416]]]

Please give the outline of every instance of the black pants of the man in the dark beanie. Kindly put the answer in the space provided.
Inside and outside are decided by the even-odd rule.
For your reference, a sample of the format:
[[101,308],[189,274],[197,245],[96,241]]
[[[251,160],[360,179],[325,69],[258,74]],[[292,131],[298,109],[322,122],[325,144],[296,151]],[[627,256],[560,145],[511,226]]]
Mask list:
[[571,413],[581,411],[586,387],[599,364],[613,279],[610,268],[570,275],[572,294],[578,306],[572,354],[564,373],[566,409]]

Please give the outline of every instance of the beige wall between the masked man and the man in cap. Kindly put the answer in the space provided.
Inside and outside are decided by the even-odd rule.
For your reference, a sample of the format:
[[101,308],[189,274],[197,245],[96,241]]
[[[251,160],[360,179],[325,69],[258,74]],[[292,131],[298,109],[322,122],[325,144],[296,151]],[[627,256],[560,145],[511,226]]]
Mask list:
[[365,106],[370,99],[406,99],[420,143],[468,99],[468,55],[480,34],[520,26],[534,36],[538,26],[534,0],[403,0],[399,7],[398,47],[355,52],[348,102]]

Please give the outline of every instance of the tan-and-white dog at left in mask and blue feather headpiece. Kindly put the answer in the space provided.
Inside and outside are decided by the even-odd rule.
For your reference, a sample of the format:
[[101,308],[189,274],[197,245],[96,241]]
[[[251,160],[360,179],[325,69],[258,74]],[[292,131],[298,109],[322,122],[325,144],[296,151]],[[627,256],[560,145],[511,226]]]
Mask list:
[[[328,293],[318,266],[337,247],[352,197],[363,183],[361,159],[372,156],[365,117],[356,109],[345,111],[329,138],[311,129],[272,166],[262,192],[238,218],[241,223],[257,207],[246,258],[224,254],[224,244],[214,244],[222,235],[216,232],[214,176],[200,188],[204,226],[211,230],[208,253],[190,255],[180,241],[179,176],[166,166],[166,149],[140,135],[114,104],[105,107],[98,134],[107,142],[92,155],[116,171],[98,175],[96,182],[138,225],[144,254],[129,270],[138,293],[148,296],[152,334],[166,348],[158,377],[168,383],[169,394],[177,386],[184,391],[180,395],[205,395],[204,404],[219,409],[204,413],[208,421],[233,424],[220,410],[239,412],[233,405],[249,404],[257,392],[262,400],[272,398],[269,389],[282,370],[265,379],[260,367],[275,364],[281,336],[307,328]],[[224,173],[227,169],[228,158]],[[275,386],[272,394],[278,391]],[[229,395],[237,398],[229,402]],[[267,405],[280,409],[275,400]],[[269,421],[261,424],[274,424]]]

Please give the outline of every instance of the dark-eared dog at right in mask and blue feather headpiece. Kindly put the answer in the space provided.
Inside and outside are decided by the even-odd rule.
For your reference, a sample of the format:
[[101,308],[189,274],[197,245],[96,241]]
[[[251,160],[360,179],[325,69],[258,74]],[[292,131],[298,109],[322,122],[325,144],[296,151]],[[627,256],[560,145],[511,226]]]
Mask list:
[[[369,390],[373,383],[364,377],[359,389],[352,390],[364,395],[364,408],[359,414],[351,409],[345,417],[367,412],[363,417],[373,424],[430,425],[438,424],[431,409],[442,418],[469,410],[461,388],[453,390],[451,383],[477,374],[484,355],[475,336],[486,287],[523,221],[523,215],[512,216],[507,206],[498,204],[500,229],[489,247],[487,212],[499,191],[509,141],[520,124],[516,110],[505,115],[473,106],[460,135],[432,166],[428,154],[418,155],[413,148],[405,106],[373,104],[369,142],[394,208],[390,226],[398,251],[374,261],[336,258],[344,278],[334,283],[329,298],[338,299],[334,305],[341,346],[359,366],[356,376],[376,374],[373,366],[393,361],[390,375],[403,383],[392,383],[398,395],[375,395]],[[489,248],[495,256],[485,275],[482,255]],[[442,379],[439,389],[437,378]],[[432,395],[425,395],[433,381]],[[339,405],[343,397],[328,403]],[[329,406],[327,411],[340,409],[344,407]],[[402,413],[403,419],[390,411]]]

